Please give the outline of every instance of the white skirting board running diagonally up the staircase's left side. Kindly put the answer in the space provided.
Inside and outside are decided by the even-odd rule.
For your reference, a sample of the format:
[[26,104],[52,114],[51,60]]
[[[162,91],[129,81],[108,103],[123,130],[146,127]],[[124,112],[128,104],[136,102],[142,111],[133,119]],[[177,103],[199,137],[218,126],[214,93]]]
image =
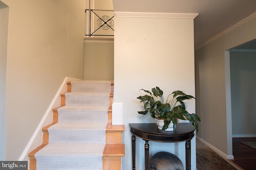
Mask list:
[[43,140],[42,127],[52,123],[52,115],[53,115],[52,114],[52,109],[56,108],[56,107],[60,107],[60,100],[61,100],[60,99],[60,94],[66,93],[67,92],[67,82],[68,81],[74,81],[74,80],[79,81],[78,79],[69,78],[69,77],[66,77],[63,80],[58,92],[54,96],[50,106],[46,110],[46,113],[44,114],[42,120],[40,121],[38,127],[36,128],[34,134],[32,135],[32,137],[30,139],[30,141],[28,142],[28,145],[23,150],[23,152],[22,152],[22,154],[19,158],[19,161],[29,161],[28,153],[31,152],[32,150],[36,149],[40,145],[42,145],[42,140]]

